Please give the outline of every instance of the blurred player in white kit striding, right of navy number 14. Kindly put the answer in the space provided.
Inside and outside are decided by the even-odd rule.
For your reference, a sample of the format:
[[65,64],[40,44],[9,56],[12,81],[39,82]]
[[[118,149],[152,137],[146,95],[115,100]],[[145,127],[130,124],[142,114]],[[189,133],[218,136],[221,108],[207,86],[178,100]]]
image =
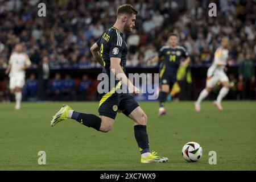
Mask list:
[[218,81],[221,81],[223,87],[218,94],[217,100],[213,101],[213,105],[217,107],[218,110],[223,110],[221,106],[222,99],[229,92],[229,78],[226,76],[224,72],[225,65],[228,60],[228,47],[229,47],[229,39],[224,37],[221,39],[221,47],[217,48],[214,53],[214,61],[213,64],[209,67],[207,71],[207,85],[205,89],[200,93],[197,101],[195,102],[195,111],[200,111],[200,104],[203,101],[212,88],[216,85]]

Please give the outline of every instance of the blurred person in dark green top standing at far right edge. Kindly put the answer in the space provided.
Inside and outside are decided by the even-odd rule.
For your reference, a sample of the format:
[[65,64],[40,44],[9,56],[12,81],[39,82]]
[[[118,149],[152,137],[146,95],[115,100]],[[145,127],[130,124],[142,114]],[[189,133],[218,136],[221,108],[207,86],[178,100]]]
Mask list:
[[251,52],[247,52],[245,60],[239,67],[239,81],[242,82],[242,98],[243,100],[253,98],[253,84],[255,81],[254,64],[251,60]]

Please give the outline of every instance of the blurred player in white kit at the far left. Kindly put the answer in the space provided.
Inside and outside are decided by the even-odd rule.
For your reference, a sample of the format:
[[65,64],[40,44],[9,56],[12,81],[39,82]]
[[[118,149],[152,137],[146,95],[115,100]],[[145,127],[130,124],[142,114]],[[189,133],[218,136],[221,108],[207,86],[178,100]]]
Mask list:
[[25,70],[29,68],[31,61],[26,53],[23,52],[22,44],[15,46],[15,51],[11,53],[9,65],[5,71],[10,77],[10,91],[15,94],[15,109],[20,109],[22,101],[22,88],[25,84]]

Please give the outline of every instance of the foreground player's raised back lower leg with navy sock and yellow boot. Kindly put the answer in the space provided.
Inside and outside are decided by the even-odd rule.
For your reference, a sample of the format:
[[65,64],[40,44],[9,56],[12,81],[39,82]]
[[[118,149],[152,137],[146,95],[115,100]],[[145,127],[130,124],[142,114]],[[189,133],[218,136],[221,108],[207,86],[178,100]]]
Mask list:
[[64,121],[65,119],[75,119],[77,122],[93,127],[94,129],[100,131],[101,118],[94,114],[79,113],[72,110],[68,105],[63,105],[60,110],[53,115],[51,126],[55,126],[57,123]]

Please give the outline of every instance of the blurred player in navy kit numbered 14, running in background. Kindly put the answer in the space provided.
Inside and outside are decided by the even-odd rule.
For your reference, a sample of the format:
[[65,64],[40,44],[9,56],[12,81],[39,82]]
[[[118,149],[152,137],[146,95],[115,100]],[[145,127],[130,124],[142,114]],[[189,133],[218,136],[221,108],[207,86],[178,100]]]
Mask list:
[[[159,115],[166,114],[164,109],[164,102],[168,94],[170,94],[172,86],[177,81],[177,69],[180,64],[185,66],[189,64],[190,58],[187,50],[182,46],[177,46],[177,35],[170,34],[168,39],[168,46],[163,46],[158,55],[148,61],[148,64],[152,64],[156,61],[162,61],[159,71],[159,84],[161,90],[159,92]],[[184,58],[184,61],[181,59]]]

